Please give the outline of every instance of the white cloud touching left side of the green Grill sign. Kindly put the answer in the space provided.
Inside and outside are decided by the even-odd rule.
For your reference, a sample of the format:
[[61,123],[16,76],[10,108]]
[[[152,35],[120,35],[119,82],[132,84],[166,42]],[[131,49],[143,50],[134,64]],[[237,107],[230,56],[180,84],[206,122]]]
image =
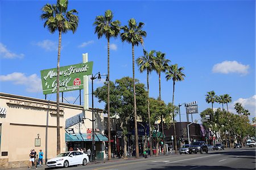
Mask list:
[[41,79],[36,74],[26,76],[24,73],[14,72],[7,75],[0,75],[0,81],[11,81],[15,85],[24,85],[30,93],[42,92]]

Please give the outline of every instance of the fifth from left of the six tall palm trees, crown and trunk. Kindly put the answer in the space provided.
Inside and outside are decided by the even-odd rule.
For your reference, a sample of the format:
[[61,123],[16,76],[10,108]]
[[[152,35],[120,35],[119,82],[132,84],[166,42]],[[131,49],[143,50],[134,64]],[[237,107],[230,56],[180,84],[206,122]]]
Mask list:
[[[156,52],[156,67],[154,68],[156,73],[159,75],[159,100],[161,100],[161,72],[166,72],[170,63],[170,60],[165,58],[166,54],[160,51]],[[163,146],[164,146],[164,154],[166,154],[166,144],[164,140],[164,123],[163,123],[163,115],[161,115],[161,123],[162,123],[162,134],[163,134]]]

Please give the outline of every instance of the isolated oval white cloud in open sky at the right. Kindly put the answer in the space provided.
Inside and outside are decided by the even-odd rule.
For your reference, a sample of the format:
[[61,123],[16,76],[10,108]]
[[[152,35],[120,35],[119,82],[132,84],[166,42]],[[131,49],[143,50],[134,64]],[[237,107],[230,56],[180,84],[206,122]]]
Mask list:
[[212,72],[223,74],[239,73],[245,75],[248,73],[249,68],[249,65],[243,65],[237,61],[223,61],[222,63],[213,65]]

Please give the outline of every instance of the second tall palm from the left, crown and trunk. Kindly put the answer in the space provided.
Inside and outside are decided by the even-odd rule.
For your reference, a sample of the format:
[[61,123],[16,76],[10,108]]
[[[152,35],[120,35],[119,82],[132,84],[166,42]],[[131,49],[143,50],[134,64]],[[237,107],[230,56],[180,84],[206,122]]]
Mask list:
[[111,134],[110,134],[110,74],[109,74],[109,39],[112,37],[117,37],[120,32],[120,22],[119,20],[112,21],[113,13],[110,10],[105,11],[105,16],[97,16],[95,22],[93,23],[95,27],[95,34],[98,35],[100,39],[105,35],[108,40],[108,160],[111,159]]

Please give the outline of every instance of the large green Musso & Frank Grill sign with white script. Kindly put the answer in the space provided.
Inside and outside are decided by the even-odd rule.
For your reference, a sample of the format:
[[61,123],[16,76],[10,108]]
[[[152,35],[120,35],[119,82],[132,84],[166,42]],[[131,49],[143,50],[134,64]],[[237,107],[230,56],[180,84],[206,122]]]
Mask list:
[[[83,76],[92,74],[93,61],[60,67],[60,92],[84,88]],[[43,94],[56,93],[57,68],[41,71]]]

